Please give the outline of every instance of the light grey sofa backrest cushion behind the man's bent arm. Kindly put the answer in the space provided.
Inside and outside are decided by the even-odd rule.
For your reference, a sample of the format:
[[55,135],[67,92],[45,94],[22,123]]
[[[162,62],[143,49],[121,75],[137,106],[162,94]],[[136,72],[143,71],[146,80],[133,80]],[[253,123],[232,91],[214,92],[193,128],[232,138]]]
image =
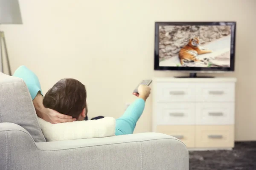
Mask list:
[[30,133],[35,142],[46,142],[25,82],[2,72],[0,72],[0,122],[20,125]]

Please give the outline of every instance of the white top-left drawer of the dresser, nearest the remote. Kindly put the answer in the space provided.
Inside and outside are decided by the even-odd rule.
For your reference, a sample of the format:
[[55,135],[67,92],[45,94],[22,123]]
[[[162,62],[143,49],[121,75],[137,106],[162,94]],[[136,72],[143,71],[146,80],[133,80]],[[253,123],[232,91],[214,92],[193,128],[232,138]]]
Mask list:
[[156,84],[156,102],[195,102],[195,83]]

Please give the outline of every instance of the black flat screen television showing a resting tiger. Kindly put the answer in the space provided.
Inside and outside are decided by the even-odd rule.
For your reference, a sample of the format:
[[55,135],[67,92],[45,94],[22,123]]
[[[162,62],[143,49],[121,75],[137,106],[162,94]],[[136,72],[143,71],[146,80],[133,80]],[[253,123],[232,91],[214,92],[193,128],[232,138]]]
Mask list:
[[235,70],[236,22],[156,22],[154,70]]

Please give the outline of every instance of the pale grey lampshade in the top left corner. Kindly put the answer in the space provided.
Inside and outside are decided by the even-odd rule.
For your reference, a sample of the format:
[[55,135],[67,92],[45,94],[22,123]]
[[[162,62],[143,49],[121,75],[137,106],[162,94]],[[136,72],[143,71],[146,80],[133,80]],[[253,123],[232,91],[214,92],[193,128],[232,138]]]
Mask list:
[[0,0],[0,24],[22,24],[18,0]]

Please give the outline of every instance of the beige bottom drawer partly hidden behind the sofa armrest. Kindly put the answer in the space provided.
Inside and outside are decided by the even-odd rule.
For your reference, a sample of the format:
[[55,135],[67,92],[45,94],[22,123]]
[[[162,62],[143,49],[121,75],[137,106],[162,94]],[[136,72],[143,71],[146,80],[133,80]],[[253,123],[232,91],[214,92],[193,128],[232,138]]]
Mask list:
[[157,126],[157,132],[180,139],[184,144],[186,144],[186,147],[195,147],[195,126],[193,125],[159,125]]

